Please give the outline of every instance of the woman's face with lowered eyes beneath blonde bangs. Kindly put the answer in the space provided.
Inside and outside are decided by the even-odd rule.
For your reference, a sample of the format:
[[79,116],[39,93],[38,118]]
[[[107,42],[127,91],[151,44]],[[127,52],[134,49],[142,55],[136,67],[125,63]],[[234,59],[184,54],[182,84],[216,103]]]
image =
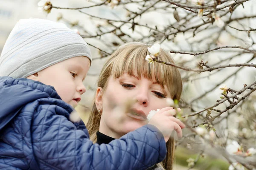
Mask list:
[[[102,93],[102,88],[98,88],[96,106],[102,111],[99,131],[113,138],[146,125],[149,112],[167,107],[166,98],[171,98],[167,87],[161,87],[155,79],[129,74],[118,79],[110,77]],[[124,106],[129,101],[136,102],[127,110]]]

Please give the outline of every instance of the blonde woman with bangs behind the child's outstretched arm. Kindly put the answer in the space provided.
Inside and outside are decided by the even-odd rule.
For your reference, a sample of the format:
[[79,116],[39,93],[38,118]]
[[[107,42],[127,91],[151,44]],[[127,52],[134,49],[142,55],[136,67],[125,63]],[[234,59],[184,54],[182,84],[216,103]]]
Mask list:
[[[146,125],[146,116],[151,110],[175,113],[173,108],[167,107],[166,99],[180,99],[180,73],[175,67],[160,63],[149,64],[145,60],[150,54],[148,47],[150,45],[142,43],[123,45],[105,62],[87,123],[93,142],[109,143]],[[163,49],[160,49],[157,57],[174,63],[170,54]],[[174,123],[179,121],[175,117],[170,119]],[[172,170],[175,148],[173,138],[169,139],[166,147],[166,159],[151,169]]]

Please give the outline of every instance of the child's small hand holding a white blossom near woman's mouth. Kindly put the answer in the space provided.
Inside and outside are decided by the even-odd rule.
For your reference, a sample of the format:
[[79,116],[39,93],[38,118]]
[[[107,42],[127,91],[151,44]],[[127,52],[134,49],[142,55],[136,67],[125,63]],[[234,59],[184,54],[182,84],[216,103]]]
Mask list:
[[181,129],[186,127],[179,119],[173,117],[175,114],[175,109],[172,107],[166,107],[158,111],[148,122],[148,124],[156,126],[160,132],[163,133],[165,142],[169,140],[173,130],[175,130],[177,132],[177,136],[181,138]]

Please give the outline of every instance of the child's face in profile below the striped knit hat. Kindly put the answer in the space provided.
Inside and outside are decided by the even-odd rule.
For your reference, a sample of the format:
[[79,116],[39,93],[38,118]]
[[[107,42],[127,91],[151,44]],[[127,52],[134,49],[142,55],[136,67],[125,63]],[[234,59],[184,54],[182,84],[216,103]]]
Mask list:
[[53,86],[61,99],[75,108],[86,91],[83,80],[89,68],[87,57],[73,57],[39,71],[36,80]]

